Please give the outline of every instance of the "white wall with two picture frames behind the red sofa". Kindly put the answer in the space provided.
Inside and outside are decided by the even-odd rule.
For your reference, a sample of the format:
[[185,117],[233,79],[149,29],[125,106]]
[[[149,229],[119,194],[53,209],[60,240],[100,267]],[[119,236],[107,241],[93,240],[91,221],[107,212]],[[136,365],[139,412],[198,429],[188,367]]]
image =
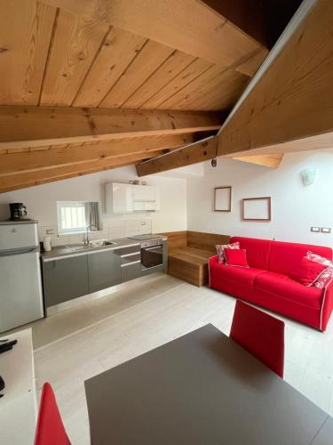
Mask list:
[[[317,180],[304,186],[300,172],[316,166]],[[214,187],[233,187],[232,212],[213,212]],[[241,221],[241,199],[272,197],[272,222]],[[218,158],[204,163],[202,177],[187,179],[187,229],[333,246],[333,234],[310,232],[333,227],[333,150],[285,155],[279,169]]]

